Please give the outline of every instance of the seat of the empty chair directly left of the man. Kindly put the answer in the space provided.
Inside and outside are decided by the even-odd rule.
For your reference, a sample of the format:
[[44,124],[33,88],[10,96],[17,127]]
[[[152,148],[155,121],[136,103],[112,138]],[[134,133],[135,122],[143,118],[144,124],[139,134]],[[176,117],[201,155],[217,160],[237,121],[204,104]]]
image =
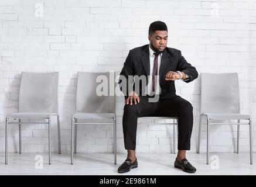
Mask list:
[[115,117],[114,113],[75,113],[76,119],[111,119]]

